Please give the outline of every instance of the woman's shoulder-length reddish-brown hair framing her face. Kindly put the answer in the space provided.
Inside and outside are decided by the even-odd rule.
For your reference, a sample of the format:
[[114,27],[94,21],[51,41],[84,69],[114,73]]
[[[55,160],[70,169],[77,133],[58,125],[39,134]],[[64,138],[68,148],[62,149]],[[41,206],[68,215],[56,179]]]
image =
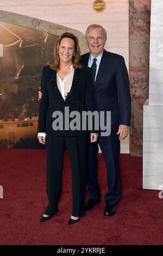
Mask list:
[[73,68],[82,69],[83,65],[79,63],[81,57],[80,57],[80,48],[79,48],[78,38],[76,35],[68,32],[61,34],[57,39],[57,41],[55,41],[54,51],[53,51],[54,63],[49,65],[50,68],[56,71],[59,70],[60,58],[59,58],[58,51],[59,51],[60,42],[63,38],[71,38],[74,41],[74,56],[72,57]]

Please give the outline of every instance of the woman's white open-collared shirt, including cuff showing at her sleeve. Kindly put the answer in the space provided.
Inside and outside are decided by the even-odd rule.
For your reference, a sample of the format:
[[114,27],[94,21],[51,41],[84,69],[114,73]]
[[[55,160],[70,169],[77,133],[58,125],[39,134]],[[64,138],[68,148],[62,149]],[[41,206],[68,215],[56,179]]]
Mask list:
[[[62,81],[60,76],[57,74],[57,87],[59,89],[60,94],[62,95],[62,98],[65,100],[67,93],[70,92],[72,81],[74,76],[74,68],[73,65],[70,66],[70,71],[65,76],[64,80]],[[46,137],[45,132],[39,132],[37,136]]]

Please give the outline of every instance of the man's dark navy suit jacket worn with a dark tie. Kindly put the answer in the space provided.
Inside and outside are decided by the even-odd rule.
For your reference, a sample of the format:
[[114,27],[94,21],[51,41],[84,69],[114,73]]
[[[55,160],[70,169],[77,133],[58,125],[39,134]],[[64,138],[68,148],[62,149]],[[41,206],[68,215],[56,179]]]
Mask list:
[[[89,62],[90,52],[82,56],[82,64]],[[104,50],[99,65],[94,97],[97,111],[111,111],[111,131],[120,124],[130,125],[131,99],[128,72],[121,55]]]

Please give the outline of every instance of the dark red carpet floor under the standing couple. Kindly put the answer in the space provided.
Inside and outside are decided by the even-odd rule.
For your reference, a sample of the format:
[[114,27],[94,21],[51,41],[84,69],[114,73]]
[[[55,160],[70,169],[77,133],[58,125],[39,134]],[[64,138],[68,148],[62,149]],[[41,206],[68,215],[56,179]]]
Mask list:
[[121,155],[123,197],[117,214],[104,217],[106,167],[99,155],[102,203],[68,226],[71,215],[70,163],[65,154],[59,212],[39,223],[47,205],[45,150],[1,149],[0,245],[162,245],[159,191],[142,189],[142,158]]

